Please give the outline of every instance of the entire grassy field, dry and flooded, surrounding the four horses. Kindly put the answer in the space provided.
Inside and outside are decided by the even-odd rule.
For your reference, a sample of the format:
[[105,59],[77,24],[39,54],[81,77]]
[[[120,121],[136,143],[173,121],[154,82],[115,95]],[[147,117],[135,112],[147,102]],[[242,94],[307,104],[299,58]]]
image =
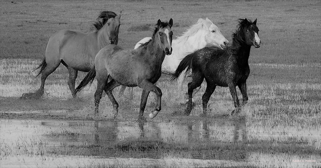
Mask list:
[[[107,97],[101,100],[100,116],[94,117],[96,84],[73,99],[62,65],[48,77],[43,98],[19,99],[40,86],[32,70],[44,57],[49,37],[61,29],[93,31],[92,23],[102,10],[123,10],[118,45],[126,48],[151,36],[158,19],[172,18],[173,33],[179,36],[199,18],[208,17],[231,42],[238,18],[257,18],[262,44],[251,49],[247,105],[238,116],[227,116],[234,108],[232,98],[228,88],[218,87],[209,101],[210,115],[204,117],[203,85],[193,99],[191,115],[172,116],[185,109],[179,102],[188,80],[180,92],[170,76],[162,75],[158,82],[162,110],[153,120],[143,126],[136,122],[139,88],[134,88],[133,100],[128,99],[128,91],[119,97],[119,88],[115,89],[120,105],[115,120],[110,118],[112,105]],[[40,166],[51,160],[61,162],[58,167],[95,168],[143,167],[143,163],[154,167],[321,166],[320,1],[30,0],[1,1],[0,11],[0,162],[4,165],[31,159]],[[80,72],[76,84],[84,76]],[[153,102],[151,94],[145,115],[154,108]],[[79,156],[84,164],[79,164]],[[116,160],[107,164],[96,156]],[[63,159],[76,164],[63,164]],[[293,162],[298,159],[316,162]]]

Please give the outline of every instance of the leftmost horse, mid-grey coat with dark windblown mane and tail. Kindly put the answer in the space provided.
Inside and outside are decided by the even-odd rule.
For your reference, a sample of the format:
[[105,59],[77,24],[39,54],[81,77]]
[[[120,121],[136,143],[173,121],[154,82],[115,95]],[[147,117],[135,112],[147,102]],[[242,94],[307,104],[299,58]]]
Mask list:
[[37,92],[23,94],[22,98],[37,99],[44,93],[47,77],[62,63],[69,71],[68,86],[73,95],[78,71],[88,72],[94,65],[96,54],[109,44],[118,44],[118,32],[122,11],[102,11],[94,23],[96,31],[82,33],[71,30],[60,30],[49,38],[46,57],[38,68],[41,74],[41,85]]

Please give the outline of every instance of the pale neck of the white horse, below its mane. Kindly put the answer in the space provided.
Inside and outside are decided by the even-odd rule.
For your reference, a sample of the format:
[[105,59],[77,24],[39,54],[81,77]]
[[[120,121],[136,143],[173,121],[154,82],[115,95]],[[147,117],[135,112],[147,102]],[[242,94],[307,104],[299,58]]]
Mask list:
[[[197,31],[194,35],[180,36],[176,39],[177,44],[184,48],[184,52],[193,52],[194,50],[204,48],[207,45],[204,31]],[[175,47],[175,49],[177,49]]]

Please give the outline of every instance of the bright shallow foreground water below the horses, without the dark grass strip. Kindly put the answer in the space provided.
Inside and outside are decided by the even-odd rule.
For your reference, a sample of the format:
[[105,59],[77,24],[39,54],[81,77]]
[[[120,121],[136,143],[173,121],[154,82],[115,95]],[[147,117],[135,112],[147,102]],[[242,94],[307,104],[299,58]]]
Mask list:
[[[261,123],[262,124],[262,123]],[[213,159],[208,152],[157,152],[130,154],[110,151],[101,153],[82,148],[104,148],[126,140],[160,140],[169,144],[242,144],[246,141],[272,140],[275,146],[289,138],[304,140],[303,148],[320,151],[320,128],[273,127],[267,130],[246,121],[192,120],[155,121],[144,124],[124,121],[57,121],[0,119],[0,167],[80,167],[109,165],[116,167],[311,167],[321,166],[320,155],[270,153],[249,150],[241,158]],[[264,143],[265,141],[262,141]],[[249,143],[248,145],[251,145]],[[272,145],[273,146],[273,145]],[[299,145],[301,148],[302,145]],[[281,147],[281,146],[280,146]],[[293,146],[295,148],[296,146]],[[82,148],[82,149],[80,149]],[[76,150],[88,150],[75,152]],[[301,148],[302,150],[302,148]],[[115,152],[115,153],[114,153]],[[217,152],[217,151],[214,151]],[[244,151],[240,151],[244,152]],[[63,155],[61,155],[63,153]],[[81,155],[77,155],[81,153]],[[108,152],[107,152],[108,153]],[[238,151],[232,153],[237,154]],[[293,160],[304,160],[294,162]],[[313,160],[315,162],[305,162]]]

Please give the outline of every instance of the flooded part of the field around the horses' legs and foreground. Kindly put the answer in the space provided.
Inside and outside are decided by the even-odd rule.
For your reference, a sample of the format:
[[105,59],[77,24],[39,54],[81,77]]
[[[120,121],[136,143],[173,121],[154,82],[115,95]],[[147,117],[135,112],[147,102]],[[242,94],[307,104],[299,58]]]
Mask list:
[[[73,99],[67,70],[59,67],[41,99],[23,100],[23,93],[39,87],[36,72],[30,73],[37,60],[1,61],[1,168],[321,167],[320,64],[251,64],[249,101],[235,116],[230,92],[222,87],[209,101],[208,116],[202,116],[205,87],[190,116],[173,115],[185,109],[184,91],[173,92],[176,83],[164,75],[158,83],[162,110],[140,123],[139,88],[133,99],[116,88],[116,119],[108,97],[96,117],[95,83]],[[146,117],[154,101],[151,94]]]

